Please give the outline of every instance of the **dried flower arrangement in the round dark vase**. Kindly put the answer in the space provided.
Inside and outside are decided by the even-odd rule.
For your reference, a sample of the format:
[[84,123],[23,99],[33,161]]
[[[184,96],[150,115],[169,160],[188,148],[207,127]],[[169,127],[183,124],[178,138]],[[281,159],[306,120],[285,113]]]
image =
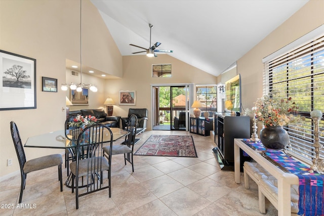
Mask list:
[[262,121],[265,126],[284,126],[301,119],[300,115],[292,114],[297,112],[298,108],[291,97],[276,101],[270,96],[263,96],[255,102],[252,111],[256,114],[256,119]]

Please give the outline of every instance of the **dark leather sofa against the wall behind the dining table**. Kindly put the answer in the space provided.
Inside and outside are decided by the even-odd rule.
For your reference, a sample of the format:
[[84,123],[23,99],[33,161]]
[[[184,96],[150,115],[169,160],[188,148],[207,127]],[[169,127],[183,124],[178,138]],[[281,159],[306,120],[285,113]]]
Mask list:
[[70,111],[69,116],[72,115],[92,115],[96,116],[98,123],[105,124],[108,127],[119,127],[120,116],[107,116],[103,109],[82,109],[76,111]]

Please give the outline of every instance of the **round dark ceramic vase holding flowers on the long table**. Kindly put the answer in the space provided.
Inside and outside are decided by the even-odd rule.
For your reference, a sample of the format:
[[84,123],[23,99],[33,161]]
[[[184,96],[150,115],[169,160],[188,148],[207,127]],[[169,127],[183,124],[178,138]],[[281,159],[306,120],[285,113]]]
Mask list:
[[267,126],[261,130],[260,140],[267,149],[285,149],[289,144],[289,135],[282,126]]

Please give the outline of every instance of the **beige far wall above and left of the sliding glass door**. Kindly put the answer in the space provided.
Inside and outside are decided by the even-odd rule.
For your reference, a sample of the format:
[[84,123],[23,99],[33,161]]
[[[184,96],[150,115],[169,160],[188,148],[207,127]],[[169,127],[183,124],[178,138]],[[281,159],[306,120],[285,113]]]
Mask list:
[[[123,78],[106,81],[105,92],[116,103],[113,115],[126,117],[129,108],[147,108],[148,116],[150,117],[150,84],[217,84],[217,78],[209,73],[166,54],[158,54],[157,56],[156,58],[148,58],[145,55],[123,57]],[[172,64],[172,77],[152,77],[152,64]],[[136,106],[119,106],[119,90],[136,90]],[[147,122],[147,128],[152,129],[151,119]]]

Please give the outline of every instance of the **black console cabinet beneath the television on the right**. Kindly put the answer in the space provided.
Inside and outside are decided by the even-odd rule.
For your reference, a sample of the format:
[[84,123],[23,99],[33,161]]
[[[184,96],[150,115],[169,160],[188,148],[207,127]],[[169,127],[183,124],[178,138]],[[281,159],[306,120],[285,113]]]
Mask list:
[[[250,138],[249,116],[236,116],[231,113],[215,113],[215,137],[217,147],[213,149],[222,169],[234,168],[234,139]],[[243,158],[243,157],[241,157]]]

